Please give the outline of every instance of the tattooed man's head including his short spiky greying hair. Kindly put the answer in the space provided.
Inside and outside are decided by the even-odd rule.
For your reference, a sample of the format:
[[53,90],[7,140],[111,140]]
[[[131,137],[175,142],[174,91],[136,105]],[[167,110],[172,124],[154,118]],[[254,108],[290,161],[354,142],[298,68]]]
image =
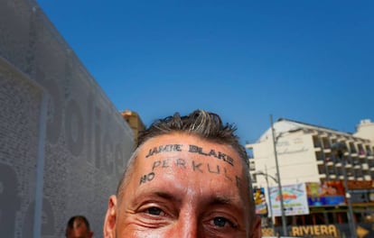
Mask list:
[[104,237],[261,237],[235,131],[203,110],[151,124],[108,199]]

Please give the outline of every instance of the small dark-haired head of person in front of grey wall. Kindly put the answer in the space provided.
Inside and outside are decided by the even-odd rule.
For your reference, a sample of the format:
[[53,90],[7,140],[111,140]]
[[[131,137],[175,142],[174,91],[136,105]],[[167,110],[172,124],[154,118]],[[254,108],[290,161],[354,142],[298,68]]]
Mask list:
[[74,215],[66,225],[65,236],[67,238],[91,238],[93,232],[89,227],[89,220],[84,215]]

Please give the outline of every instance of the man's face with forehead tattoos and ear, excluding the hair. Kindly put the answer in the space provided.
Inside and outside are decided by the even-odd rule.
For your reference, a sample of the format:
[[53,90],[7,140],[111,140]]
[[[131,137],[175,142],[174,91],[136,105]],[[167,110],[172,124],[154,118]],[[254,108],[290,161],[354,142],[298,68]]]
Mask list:
[[145,142],[106,237],[248,237],[248,181],[229,146],[186,134]]

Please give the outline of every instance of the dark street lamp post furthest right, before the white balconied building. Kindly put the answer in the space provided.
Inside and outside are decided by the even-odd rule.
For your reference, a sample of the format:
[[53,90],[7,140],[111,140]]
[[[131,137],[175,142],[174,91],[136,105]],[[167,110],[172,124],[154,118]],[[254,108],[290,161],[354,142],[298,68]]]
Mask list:
[[344,189],[345,189],[345,198],[347,199],[347,206],[348,206],[348,224],[350,225],[351,230],[351,237],[356,238],[356,227],[353,220],[353,210],[351,205],[351,194],[348,190],[348,183],[347,183],[347,172],[345,170],[345,164],[346,160],[344,157],[344,152],[347,151],[347,146],[344,142],[335,142],[332,144],[332,151],[338,158],[341,160],[341,167],[342,167],[342,173],[344,177]]

